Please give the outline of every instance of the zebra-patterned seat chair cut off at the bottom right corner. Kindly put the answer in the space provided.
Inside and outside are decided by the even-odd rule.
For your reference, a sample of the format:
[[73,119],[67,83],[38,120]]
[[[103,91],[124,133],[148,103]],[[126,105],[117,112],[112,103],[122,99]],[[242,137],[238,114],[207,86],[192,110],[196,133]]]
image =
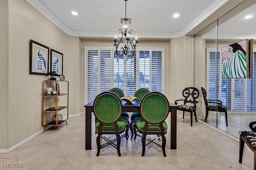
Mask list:
[[239,163],[242,163],[244,143],[252,150],[254,153],[254,164],[253,169],[256,170],[256,121],[249,123],[250,129],[252,131],[240,131],[240,142],[239,142]]

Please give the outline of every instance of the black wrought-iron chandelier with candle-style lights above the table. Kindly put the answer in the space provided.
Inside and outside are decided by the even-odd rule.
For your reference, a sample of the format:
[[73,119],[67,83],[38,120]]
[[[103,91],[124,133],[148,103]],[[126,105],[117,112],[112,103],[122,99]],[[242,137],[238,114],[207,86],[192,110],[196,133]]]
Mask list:
[[[137,41],[137,36],[135,38],[134,41],[132,41],[132,32],[133,30],[131,29],[128,32],[128,26],[126,25],[126,21],[128,21],[128,18],[126,18],[126,1],[125,1],[125,25],[124,27],[124,31],[122,29],[119,29],[118,31],[118,41],[116,40],[116,36],[115,36],[115,40],[114,40],[114,53],[117,55],[118,59],[119,57],[124,56],[124,62],[126,63],[126,61],[128,61],[127,56],[132,58],[132,62],[134,60],[134,56],[136,55],[136,47],[139,45],[139,42]],[[121,18],[122,20],[122,18]],[[130,20],[129,20],[130,22]],[[122,21],[121,21],[122,23]],[[123,40],[124,42],[124,47],[119,47],[120,42]],[[117,59],[117,61],[118,61]]]

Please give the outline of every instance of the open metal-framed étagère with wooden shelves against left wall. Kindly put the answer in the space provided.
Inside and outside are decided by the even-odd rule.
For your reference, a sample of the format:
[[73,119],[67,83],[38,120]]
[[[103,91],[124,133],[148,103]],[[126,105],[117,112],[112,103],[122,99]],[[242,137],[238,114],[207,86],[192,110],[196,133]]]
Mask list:
[[[68,86],[68,81],[44,80],[42,82],[42,126],[44,126],[44,131],[47,126],[57,126],[59,131],[60,125],[64,123],[68,125]],[[52,88],[52,91],[56,91],[57,94],[47,95],[47,88]],[[55,102],[58,99],[59,108],[55,109]],[[65,119],[63,120],[62,117]]]

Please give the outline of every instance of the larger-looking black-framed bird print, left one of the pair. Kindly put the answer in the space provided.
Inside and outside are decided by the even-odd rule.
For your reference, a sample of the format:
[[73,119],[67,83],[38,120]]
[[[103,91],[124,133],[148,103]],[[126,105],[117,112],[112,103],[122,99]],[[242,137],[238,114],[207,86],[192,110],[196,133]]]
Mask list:
[[47,75],[49,72],[49,47],[30,39],[29,74]]

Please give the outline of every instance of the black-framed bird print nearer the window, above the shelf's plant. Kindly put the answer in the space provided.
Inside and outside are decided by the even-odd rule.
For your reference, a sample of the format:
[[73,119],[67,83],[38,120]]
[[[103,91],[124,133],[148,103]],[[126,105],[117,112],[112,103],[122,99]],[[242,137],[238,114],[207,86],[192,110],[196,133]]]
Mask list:
[[51,49],[50,53],[51,71],[55,71],[55,75],[60,76],[63,74],[63,54],[54,49]]

